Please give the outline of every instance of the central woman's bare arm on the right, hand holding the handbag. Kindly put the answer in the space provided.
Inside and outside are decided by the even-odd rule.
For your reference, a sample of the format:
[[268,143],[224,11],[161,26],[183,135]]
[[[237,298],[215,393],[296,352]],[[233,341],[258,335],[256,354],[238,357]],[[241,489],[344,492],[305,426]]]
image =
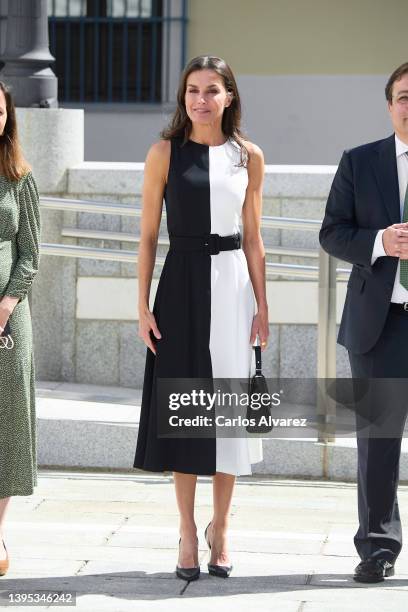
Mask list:
[[258,335],[262,349],[264,349],[269,336],[265,281],[265,249],[261,236],[264,158],[259,147],[252,143],[246,143],[246,146],[249,151],[248,187],[242,209],[244,230],[242,248],[248,262],[249,276],[258,306],[258,312],[252,324],[250,343],[253,344]]

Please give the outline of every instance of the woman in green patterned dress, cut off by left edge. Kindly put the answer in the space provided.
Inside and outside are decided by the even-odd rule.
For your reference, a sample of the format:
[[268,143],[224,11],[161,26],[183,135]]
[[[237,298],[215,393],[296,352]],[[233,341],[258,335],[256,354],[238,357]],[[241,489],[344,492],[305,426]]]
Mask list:
[[37,484],[27,293],[38,270],[39,233],[37,187],[20,150],[13,100],[0,81],[0,575],[9,566],[3,526],[10,498],[31,495]]

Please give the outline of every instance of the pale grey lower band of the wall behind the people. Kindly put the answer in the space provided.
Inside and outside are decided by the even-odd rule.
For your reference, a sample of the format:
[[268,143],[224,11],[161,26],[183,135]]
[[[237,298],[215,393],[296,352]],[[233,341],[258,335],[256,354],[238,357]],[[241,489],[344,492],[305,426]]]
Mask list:
[[[336,164],[344,149],[392,132],[386,75],[238,77],[243,126],[270,164]],[[142,161],[169,107],[85,110],[85,159]]]

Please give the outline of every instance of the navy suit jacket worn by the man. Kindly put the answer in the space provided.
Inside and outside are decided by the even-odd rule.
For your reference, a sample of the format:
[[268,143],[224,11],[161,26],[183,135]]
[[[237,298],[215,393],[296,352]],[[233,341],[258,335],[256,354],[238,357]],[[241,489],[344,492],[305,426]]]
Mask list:
[[379,257],[371,265],[379,229],[400,223],[394,135],[345,151],[327,200],[319,234],[323,249],[353,264],[338,342],[366,353],[384,328],[398,265]]

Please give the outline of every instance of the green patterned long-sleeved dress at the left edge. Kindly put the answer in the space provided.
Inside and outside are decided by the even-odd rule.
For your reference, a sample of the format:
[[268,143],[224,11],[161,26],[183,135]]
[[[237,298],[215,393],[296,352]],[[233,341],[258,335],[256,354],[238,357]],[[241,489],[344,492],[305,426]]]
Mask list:
[[37,484],[34,360],[27,293],[38,270],[38,191],[29,172],[0,176],[0,298],[18,297],[9,318],[14,348],[0,348],[0,499]]

